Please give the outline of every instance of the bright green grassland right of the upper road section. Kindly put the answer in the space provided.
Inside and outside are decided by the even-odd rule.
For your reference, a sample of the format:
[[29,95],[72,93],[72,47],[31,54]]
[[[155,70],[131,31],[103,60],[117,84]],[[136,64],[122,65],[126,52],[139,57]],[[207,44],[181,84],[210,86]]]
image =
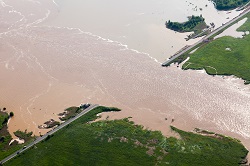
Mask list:
[[[247,22],[237,31],[250,31],[250,14]],[[224,36],[203,47],[190,56],[183,69],[205,69],[210,75],[235,75],[250,83],[250,35],[244,38]]]

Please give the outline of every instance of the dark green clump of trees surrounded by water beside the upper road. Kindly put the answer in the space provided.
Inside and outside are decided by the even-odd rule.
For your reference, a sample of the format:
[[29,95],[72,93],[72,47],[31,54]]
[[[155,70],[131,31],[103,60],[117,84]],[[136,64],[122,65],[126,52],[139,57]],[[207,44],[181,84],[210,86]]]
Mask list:
[[184,23],[171,22],[170,20],[166,22],[166,27],[168,29],[177,32],[195,32],[198,34],[202,29],[206,28],[205,19],[202,16],[191,16],[188,17],[188,21]]

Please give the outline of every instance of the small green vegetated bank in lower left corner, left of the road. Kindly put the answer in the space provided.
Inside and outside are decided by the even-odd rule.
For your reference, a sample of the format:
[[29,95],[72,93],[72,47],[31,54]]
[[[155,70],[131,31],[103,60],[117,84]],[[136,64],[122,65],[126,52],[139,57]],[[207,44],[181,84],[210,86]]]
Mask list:
[[[11,145],[9,145],[12,137],[7,128],[7,122],[9,119],[9,115],[6,112],[0,111],[0,160],[7,157],[8,155],[14,153],[18,149],[21,149],[24,145],[17,144],[14,141]],[[27,133],[17,131],[15,132],[20,138],[24,138],[27,143],[32,140],[33,137],[31,135],[26,135]]]

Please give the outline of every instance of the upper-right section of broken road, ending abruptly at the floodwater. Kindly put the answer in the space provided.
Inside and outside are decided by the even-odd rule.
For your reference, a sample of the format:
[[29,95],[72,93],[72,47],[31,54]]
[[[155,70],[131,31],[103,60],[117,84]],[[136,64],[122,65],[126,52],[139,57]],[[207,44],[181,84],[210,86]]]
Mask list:
[[229,26],[231,23],[233,23],[234,21],[237,21],[239,19],[241,19],[242,17],[244,17],[247,13],[250,12],[250,8],[248,7],[243,13],[241,13],[240,15],[238,15],[237,17],[235,17],[234,19],[228,21],[226,24],[220,26],[219,28],[215,29],[213,32],[211,32],[209,35],[205,36],[204,38],[202,38],[200,41],[196,42],[195,44],[185,48],[184,50],[180,51],[179,53],[177,53],[176,55],[172,56],[169,60],[167,60],[166,62],[164,62],[162,64],[162,66],[166,66],[169,63],[171,63],[173,60],[175,60],[176,58],[180,57],[182,54],[192,50],[194,47],[196,47],[198,44],[204,42],[205,40],[207,40],[209,37],[215,35],[216,33],[218,33],[220,30],[226,28],[227,26]]

